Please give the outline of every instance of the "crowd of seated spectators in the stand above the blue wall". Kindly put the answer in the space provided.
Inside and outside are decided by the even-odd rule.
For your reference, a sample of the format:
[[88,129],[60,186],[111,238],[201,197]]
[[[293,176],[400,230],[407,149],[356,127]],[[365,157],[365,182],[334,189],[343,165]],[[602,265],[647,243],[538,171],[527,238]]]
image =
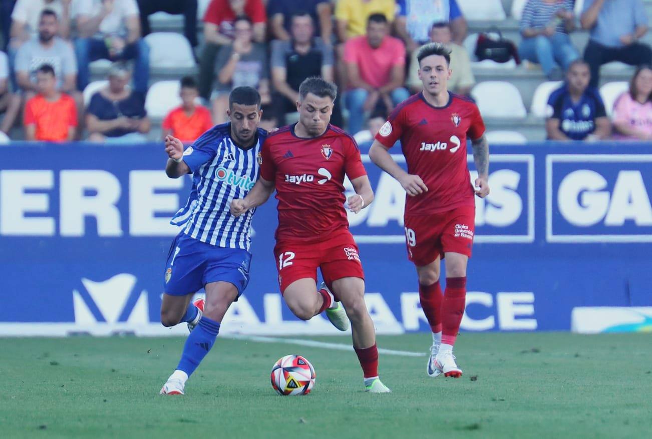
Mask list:
[[[640,42],[642,0],[584,0],[577,15],[574,9],[574,0],[527,0],[520,18],[520,57],[540,64],[548,79],[565,79],[548,100],[548,138],[651,139],[652,50]],[[416,49],[431,41],[452,50],[449,89],[469,95],[475,85],[456,0],[211,0],[201,38],[198,0],[0,0],[0,131],[22,122],[28,140],[145,141],[144,36],[156,12],[183,16],[198,65],[196,78],[180,81],[183,104],[162,123],[163,135],[183,141],[226,121],[228,94],[242,85],[260,92],[265,126],[291,121],[308,76],[338,84],[343,98],[333,123],[364,139],[421,91]],[[569,35],[578,28],[589,31],[582,55]],[[111,61],[107,84],[84,100],[89,64],[100,59]],[[600,66],[611,61],[638,69],[609,120],[597,85]]]

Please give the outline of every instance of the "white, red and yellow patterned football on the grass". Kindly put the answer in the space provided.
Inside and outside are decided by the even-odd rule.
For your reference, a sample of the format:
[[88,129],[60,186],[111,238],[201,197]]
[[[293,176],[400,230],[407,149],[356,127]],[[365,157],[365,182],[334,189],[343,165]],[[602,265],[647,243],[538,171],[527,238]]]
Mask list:
[[301,355],[286,355],[272,367],[272,388],[279,395],[308,395],[315,385],[315,369]]

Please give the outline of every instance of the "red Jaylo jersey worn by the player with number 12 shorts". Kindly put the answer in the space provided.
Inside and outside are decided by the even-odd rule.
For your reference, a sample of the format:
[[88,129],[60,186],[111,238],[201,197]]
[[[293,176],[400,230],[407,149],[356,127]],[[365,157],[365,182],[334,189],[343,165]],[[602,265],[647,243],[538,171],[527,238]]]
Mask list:
[[319,137],[297,137],[295,125],[269,135],[261,151],[260,175],[276,183],[276,240],[319,241],[348,229],[344,174],[366,175],[353,137],[333,125]]

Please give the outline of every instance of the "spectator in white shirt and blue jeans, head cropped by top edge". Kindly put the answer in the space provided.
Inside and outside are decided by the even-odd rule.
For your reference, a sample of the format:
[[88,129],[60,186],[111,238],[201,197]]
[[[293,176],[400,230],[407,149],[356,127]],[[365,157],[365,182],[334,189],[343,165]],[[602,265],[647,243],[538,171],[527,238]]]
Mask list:
[[140,35],[136,0],[76,0],[73,16],[79,34],[75,51],[80,69],[77,81],[80,91],[89,83],[91,61],[133,59],[134,88],[147,93],[149,46]]

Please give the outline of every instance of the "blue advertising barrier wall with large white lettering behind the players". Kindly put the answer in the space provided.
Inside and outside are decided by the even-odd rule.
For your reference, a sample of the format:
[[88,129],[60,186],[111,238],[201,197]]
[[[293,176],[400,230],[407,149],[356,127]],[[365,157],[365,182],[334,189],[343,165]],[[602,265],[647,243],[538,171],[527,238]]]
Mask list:
[[[178,231],[168,220],[190,178],[166,177],[162,146],[2,151],[0,334],[170,333],[157,324]],[[404,191],[363,158],[376,201],[349,221],[372,317],[381,333],[426,330],[406,259]],[[470,156],[469,168],[473,177]],[[575,308],[652,305],[652,146],[494,146],[490,171],[463,330],[569,330]],[[278,295],[273,202],[253,227],[252,280],[224,330],[331,333],[324,319],[293,318]]]

